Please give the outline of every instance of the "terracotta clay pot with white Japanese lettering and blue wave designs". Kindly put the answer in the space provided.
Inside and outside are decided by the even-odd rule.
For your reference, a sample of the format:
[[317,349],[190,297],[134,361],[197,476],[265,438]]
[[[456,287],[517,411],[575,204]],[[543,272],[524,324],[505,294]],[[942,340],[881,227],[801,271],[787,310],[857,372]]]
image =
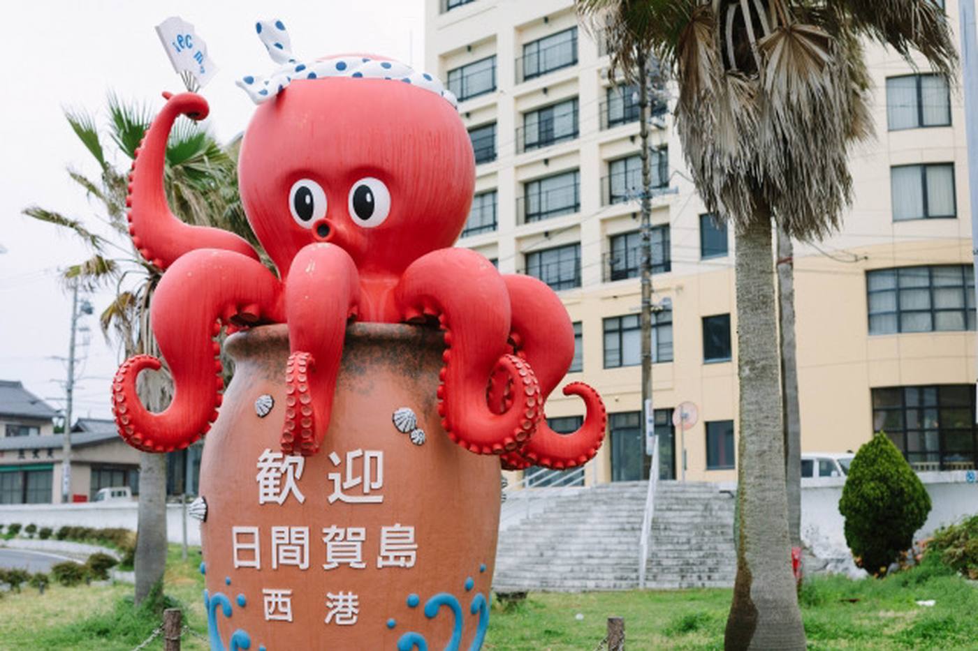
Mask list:
[[[481,647],[500,464],[442,430],[435,398],[442,349],[430,328],[351,325],[323,449],[297,462],[275,456],[287,405],[287,327],[228,339],[235,375],[200,462],[207,503],[200,570],[213,649],[245,648],[245,639],[268,651]],[[399,412],[399,429],[400,408],[417,422]],[[337,485],[345,498],[334,494]],[[382,550],[383,528],[391,527]]]

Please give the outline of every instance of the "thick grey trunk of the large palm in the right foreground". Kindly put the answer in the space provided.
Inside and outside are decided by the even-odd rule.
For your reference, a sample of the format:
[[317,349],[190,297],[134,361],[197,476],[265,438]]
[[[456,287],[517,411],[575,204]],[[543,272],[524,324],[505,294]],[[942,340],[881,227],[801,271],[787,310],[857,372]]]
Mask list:
[[736,236],[737,571],[725,648],[803,650],[791,574],[770,216]]

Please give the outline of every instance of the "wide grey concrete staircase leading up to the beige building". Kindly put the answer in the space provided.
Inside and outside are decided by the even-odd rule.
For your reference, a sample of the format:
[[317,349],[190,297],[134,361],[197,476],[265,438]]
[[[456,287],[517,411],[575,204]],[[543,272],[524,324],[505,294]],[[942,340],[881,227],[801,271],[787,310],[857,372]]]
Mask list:
[[[530,517],[500,532],[493,588],[637,588],[647,486],[617,482],[543,494]],[[733,499],[712,484],[658,488],[647,586],[732,586]],[[516,499],[505,506],[522,508]]]

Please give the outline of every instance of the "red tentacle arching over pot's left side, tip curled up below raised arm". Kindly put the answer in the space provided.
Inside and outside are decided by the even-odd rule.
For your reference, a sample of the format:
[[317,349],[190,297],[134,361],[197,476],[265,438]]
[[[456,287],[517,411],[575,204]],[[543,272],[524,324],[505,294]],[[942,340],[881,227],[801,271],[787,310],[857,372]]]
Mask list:
[[173,376],[173,400],[162,412],[143,406],[136,378],[159,369],[149,355],[126,360],[112,382],[119,435],[134,448],[170,452],[200,438],[221,404],[221,322],[281,322],[281,283],[260,263],[233,251],[200,249],[182,256],[156,287],[151,319]]

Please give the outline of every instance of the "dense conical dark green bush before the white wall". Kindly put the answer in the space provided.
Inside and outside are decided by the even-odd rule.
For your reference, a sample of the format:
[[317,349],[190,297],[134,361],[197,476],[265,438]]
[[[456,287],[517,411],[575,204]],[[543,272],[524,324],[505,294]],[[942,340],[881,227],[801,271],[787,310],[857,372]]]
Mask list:
[[875,434],[859,449],[839,500],[856,565],[883,576],[927,520],[930,496],[896,446]]

